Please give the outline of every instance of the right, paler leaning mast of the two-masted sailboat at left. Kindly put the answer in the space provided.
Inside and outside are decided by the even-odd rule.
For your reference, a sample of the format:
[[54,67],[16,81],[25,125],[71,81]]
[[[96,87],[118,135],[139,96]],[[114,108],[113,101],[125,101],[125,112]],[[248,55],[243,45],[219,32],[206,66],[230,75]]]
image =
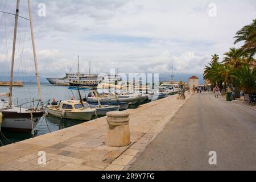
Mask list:
[[42,98],[42,90],[41,90],[40,78],[39,78],[39,72],[38,72],[38,61],[37,61],[37,58],[36,58],[35,39],[34,39],[34,31],[33,31],[33,26],[32,26],[32,16],[31,16],[31,9],[30,9],[30,0],[27,0],[27,3],[28,3],[28,13],[29,13],[29,16],[30,16],[30,31],[31,31],[33,53],[34,53],[36,81],[38,82],[39,98],[42,101],[43,98]]

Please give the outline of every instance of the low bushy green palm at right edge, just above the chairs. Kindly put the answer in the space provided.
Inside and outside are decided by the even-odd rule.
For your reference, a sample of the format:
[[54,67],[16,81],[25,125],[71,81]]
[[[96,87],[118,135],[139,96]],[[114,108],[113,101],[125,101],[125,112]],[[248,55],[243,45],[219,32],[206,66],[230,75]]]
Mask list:
[[242,65],[230,72],[230,76],[240,81],[242,90],[247,94],[253,94],[256,89],[256,67],[251,71],[249,65]]

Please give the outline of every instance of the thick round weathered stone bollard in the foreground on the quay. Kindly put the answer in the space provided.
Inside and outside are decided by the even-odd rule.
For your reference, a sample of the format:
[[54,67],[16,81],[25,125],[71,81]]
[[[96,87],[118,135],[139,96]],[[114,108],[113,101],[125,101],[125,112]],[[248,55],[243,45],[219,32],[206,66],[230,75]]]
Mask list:
[[129,146],[130,127],[129,127],[129,113],[121,111],[112,111],[107,113],[108,118],[108,133],[106,135],[106,146],[123,147]]

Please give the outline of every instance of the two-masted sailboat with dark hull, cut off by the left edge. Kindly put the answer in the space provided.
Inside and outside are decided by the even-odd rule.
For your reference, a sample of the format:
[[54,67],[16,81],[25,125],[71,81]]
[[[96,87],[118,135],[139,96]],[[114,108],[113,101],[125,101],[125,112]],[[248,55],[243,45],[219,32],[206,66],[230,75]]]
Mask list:
[[9,93],[2,94],[3,96],[8,96],[9,100],[3,100],[3,99],[1,100],[1,104],[0,104],[1,119],[0,120],[2,120],[2,123],[0,123],[0,124],[1,124],[1,129],[5,130],[5,131],[30,133],[32,130],[34,130],[35,126],[38,124],[40,118],[44,114],[44,111],[43,111],[42,92],[41,92],[41,88],[40,88],[38,66],[37,66],[37,60],[36,60],[36,51],[35,51],[34,34],[33,34],[33,28],[32,28],[30,0],[28,0],[28,13],[30,16],[31,39],[32,39],[32,47],[33,47],[33,53],[34,53],[36,80],[38,82],[38,90],[39,90],[40,99],[38,100],[37,106],[33,107],[31,109],[22,107],[24,104],[27,104],[27,103],[20,105],[20,107],[15,107],[13,105],[13,101],[12,101],[16,32],[17,32],[18,18],[19,18],[19,2],[20,2],[19,0],[16,1],[13,54],[12,54],[12,58],[11,58],[10,89],[9,89]]

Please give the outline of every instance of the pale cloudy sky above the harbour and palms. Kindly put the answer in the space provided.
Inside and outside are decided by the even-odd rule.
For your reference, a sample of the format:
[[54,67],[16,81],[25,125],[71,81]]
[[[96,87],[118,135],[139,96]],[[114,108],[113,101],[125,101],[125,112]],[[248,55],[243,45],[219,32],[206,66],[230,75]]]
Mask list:
[[[14,0],[0,10],[15,13]],[[39,3],[46,5],[42,15]],[[216,16],[210,3],[216,5]],[[43,77],[64,76],[77,55],[81,71],[108,73],[202,74],[210,55],[233,47],[233,37],[256,15],[256,1],[32,0],[39,70]],[[39,13],[39,14],[38,14]],[[28,18],[27,1],[20,15]],[[14,16],[0,13],[0,72],[9,73]],[[29,22],[19,18],[15,71],[32,71]],[[239,45],[237,45],[239,46]],[[7,56],[6,56],[7,55]],[[222,56],[221,56],[222,57]]]

